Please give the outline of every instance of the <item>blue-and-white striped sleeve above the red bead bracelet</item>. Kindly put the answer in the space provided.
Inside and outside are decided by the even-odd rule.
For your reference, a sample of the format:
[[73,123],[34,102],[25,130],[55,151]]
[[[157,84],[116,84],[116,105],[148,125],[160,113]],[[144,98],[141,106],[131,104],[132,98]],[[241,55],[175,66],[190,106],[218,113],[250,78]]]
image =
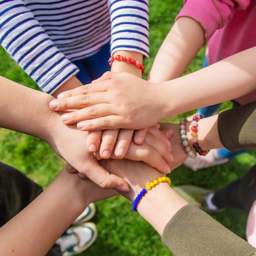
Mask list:
[[136,51],[149,57],[148,0],[108,0],[111,19],[111,54]]

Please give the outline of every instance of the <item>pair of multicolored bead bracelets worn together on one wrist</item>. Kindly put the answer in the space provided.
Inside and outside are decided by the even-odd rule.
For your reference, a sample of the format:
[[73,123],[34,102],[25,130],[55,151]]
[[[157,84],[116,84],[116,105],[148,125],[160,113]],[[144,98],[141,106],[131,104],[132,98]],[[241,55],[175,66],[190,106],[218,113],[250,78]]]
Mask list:
[[[203,116],[202,115],[195,115],[193,117],[193,121],[191,122],[191,135],[192,135],[192,142],[193,142],[193,147],[195,148],[195,151],[200,155],[200,156],[206,156],[210,150],[202,150],[197,142],[197,126],[198,126],[198,121],[200,119],[202,119]],[[180,120],[180,134],[181,134],[181,139],[182,139],[182,144],[185,147],[185,151],[187,152],[188,156],[190,156],[191,158],[195,158],[196,154],[191,150],[190,146],[188,145],[188,141],[187,141],[187,135],[186,135],[186,130],[185,130],[185,123],[187,122],[186,118],[182,118]]]

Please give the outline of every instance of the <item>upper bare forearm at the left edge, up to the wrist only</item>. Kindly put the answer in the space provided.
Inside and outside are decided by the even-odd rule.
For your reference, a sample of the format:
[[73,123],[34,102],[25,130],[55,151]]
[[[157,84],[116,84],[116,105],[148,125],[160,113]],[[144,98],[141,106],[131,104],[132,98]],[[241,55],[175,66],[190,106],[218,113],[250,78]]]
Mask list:
[[46,139],[52,96],[0,77],[0,127]]

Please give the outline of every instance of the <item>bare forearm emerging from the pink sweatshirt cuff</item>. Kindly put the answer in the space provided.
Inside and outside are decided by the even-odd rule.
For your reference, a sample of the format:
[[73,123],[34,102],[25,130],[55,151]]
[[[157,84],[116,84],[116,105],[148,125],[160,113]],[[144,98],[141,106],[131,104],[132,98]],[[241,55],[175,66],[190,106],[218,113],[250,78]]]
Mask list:
[[204,43],[202,26],[192,18],[180,17],[157,52],[147,80],[159,83],[180,77]]

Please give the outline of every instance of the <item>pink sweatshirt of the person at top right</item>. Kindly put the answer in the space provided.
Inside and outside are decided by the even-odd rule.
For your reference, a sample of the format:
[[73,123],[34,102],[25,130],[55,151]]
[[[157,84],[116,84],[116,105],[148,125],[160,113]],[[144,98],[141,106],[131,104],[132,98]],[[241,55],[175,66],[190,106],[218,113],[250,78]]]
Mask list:
[[[208,42],[208,65],[256,46],[255,0],[185,0],[176,17],[198,21]],[[241,104],[256,100],[256,92],[237,99]]]

